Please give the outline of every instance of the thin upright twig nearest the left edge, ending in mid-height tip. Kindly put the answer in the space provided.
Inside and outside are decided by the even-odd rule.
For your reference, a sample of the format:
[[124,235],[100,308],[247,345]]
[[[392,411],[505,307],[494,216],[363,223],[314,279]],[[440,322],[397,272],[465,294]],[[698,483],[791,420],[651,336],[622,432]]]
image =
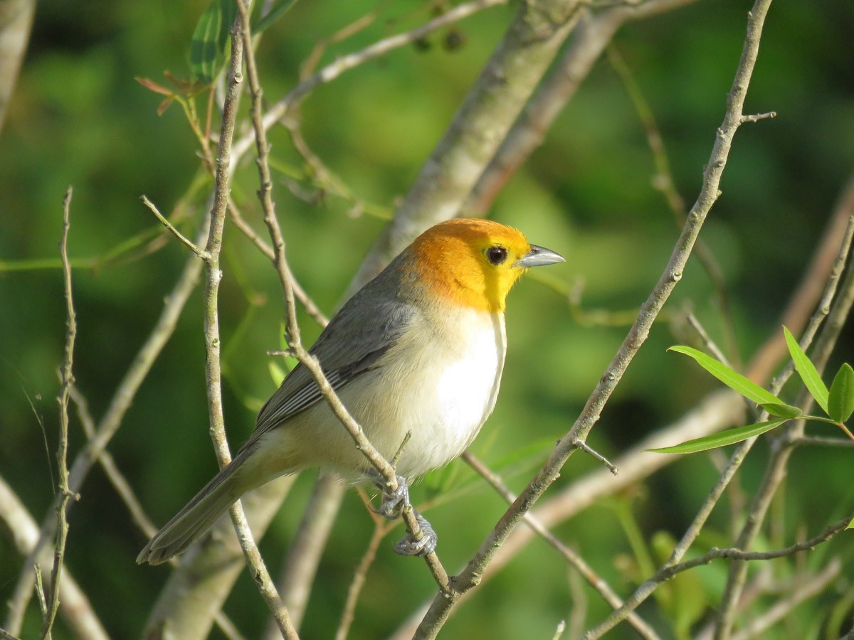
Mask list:
[[50,595],[47,600],[47,614],[42,625],[42,637],[50,637],[50,630],[56,620],[59,609],[59,583],[62,577],[62,566],[65,562],[65,544],[68,537],[67,505],[77,495],[68,488],[68,396],[74,384],[72,371],[74,361],[74,340],[77,337],[77,316],[74,313],[74,300],[71,285],[71,264],[68,261],[68,230],[71,228],[71,187],[65,192],[62,200],[62,241],[60,256],[62,259],[63,286],[65,289],[65,305],[67,314],[67,333],[65,336],[65,360],[61,369],[61,392],[59,402],[59,445],[56,451],[56,461],[59,473],[59,486],[56,500],[56,546],[54,549],[53,569],[50,572]]

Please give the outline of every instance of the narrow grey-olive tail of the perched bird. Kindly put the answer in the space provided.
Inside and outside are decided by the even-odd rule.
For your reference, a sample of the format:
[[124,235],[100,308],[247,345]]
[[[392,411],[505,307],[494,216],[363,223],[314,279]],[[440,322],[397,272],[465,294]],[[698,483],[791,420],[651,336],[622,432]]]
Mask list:
[[[196,493],[189,503],[168,521],[137,556],[137,564],[161,564],[186,550],[208,532],[219,516],[237,502],[237,498],[254,486],[246,486],[247,474],[240,473],[251,451],[241,451],[230,464]],[[256,483],[257,484],[257,483]]]

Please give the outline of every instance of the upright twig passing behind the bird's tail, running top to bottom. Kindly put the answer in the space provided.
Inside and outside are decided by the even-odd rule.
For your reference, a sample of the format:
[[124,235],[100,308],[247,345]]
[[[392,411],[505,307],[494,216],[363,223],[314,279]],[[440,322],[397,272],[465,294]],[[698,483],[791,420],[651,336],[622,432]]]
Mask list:
[[[246,0],[248,3],[249,0]],[[220,467],[231,462],[228,441],[225,439],[225,421],[222,412],[222,372],[220,370],[220,340],[219,340],[219,282],[222,271],[219,270],[219,253],[222,247],[222,234],[225,226],[225,209],[228,206],[230,193],[231,141],[234,137],[234,123],[237,118],[237,104],[243,86],[244,49],[246,59],[251,55],[251,36],[249,29],[244,32],[242,24],[248,25],[249,8],[244,0],[237,1],[240,18],[231,27],[231,62],[228,71],[228,86],[225,92],[222,119],[219,129],[219,150],[216,162],[216,182],[213,193],[213,207],[210,212],[210,233],[205,247],[208,259],[205,261],[207,278],[205,281],[205,381],[208,390],[208,408],[210,413],[210,430],[214,449],[217,453]],[[249,523],[243,514],[243,507],[238,501],[231,507],[231,521],[234,523],[237,539],[243,549],[243,556],[249,566],[255,584],[267,608],[275,617],[282,636],[285,638],[298,637],[290,622],[287,609],[272,583],[270,574],[261,559],[258,547],[254,543]]]

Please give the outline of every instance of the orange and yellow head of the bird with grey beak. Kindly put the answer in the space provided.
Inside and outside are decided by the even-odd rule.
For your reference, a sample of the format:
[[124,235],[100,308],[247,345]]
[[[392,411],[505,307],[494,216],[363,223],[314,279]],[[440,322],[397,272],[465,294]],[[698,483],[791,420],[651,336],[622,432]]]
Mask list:
[[418,280],[440,300],[500,313],[529,267],[564,259],[492,220],[458,218],[424,231],[410,247]]

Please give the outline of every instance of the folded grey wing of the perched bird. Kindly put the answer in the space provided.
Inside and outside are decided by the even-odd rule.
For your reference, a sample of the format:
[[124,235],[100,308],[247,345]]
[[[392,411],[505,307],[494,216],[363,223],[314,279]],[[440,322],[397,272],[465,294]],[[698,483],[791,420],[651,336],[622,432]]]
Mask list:
[[[389,284],[392,283],[385,282]],[[375,280],[355,294],[309,350],[319,359],[326,379],[336,391],[377,367],[377,361],[419,315],[411,304],[399,298],[388,300],[387,293],[377,291],[383,288],[377,287]],[[261,408],[252,439],[322,399],[314,376],[298,364]]]

